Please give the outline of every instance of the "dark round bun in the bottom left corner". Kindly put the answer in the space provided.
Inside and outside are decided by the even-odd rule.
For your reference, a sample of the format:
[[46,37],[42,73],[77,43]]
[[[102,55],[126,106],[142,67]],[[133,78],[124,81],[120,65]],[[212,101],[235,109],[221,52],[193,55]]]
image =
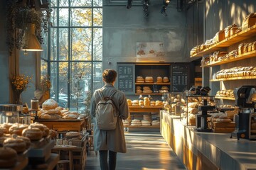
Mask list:
[[11,168],[16,164],[17,152],[11,147],[0,148],[0,168]]

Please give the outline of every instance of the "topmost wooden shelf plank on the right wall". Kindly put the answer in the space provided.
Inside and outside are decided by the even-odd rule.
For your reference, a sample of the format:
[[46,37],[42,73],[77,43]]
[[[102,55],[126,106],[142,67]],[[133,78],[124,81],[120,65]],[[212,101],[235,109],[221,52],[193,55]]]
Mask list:
[[237,42],[251,38],[253,35],[256,35],[256,25],[241,31],[240,33],[232,35],[229,38],[226,38],[225,40],[222,40],[215,45],[212,45],[205,50],[196,53],[195,55],[191,55],[191,57],[201,57],[203,55],[207,55],[210,52],[219,50],[221,47],[229,47],[230,45],[233,45]]

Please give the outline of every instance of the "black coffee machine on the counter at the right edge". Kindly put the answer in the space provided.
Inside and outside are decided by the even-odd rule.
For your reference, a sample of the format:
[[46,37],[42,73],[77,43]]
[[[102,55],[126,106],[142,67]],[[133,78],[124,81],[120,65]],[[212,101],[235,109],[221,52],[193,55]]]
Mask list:
[[241,86],[235,88],[235,105],[239,106],[240,112],[235,115],[235,131],[232,137],[250,139],[250,114],[255,113],[256,86]]

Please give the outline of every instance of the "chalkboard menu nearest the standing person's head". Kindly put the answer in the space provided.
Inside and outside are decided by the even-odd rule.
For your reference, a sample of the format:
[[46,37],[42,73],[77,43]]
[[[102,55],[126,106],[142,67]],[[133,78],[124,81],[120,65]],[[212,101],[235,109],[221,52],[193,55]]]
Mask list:
[[117,64],[118,89],[134,94],[134,64]]

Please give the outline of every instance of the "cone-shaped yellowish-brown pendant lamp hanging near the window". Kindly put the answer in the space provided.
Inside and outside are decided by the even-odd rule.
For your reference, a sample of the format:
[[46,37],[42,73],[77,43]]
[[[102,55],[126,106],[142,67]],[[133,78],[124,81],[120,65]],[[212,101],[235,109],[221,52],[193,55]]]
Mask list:
[[26,26],[26,30],[23,38],[23,47],[21,50],[23,51],[43,51],[38,38],[36,38],[36,26],[35,24],[28,23]]

